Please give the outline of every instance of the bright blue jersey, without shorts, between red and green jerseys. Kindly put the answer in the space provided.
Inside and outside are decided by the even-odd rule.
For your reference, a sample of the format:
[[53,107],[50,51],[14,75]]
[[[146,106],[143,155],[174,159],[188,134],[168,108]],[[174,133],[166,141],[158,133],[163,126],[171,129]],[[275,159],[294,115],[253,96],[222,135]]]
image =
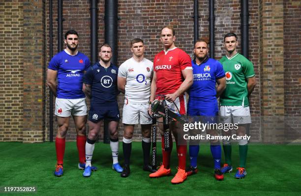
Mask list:
[[208,58],[201,65],[192,61],[193,84],[189,90],[189,100],[216,100],[215,83],[225,77],[223,66],[216,60]]

